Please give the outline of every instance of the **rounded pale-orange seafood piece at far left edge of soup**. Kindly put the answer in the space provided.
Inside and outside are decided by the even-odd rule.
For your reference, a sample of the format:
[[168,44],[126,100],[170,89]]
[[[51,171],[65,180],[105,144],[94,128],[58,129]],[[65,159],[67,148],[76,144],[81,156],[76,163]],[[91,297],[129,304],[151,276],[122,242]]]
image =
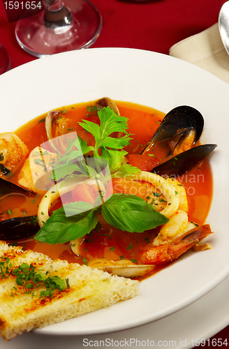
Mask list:
[[27,157],[28,148],[12,132],[0,133],[0,163],[13,172]]

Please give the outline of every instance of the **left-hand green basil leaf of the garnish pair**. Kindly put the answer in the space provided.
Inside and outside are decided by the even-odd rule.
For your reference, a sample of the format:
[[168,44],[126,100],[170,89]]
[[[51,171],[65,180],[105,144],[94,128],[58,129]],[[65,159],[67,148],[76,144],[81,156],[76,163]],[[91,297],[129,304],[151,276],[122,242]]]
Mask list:
[[[75,204],[77,203],[75,202]],[[85,202],[85,204],[88,203]],[[95,228],[97,223],[96,209],[66,217],[64,209],[61,207],[47,219],[47,222],[35,235],[34,239],[40,242],[47,242],[48,244],[64,244],[88,234]]]

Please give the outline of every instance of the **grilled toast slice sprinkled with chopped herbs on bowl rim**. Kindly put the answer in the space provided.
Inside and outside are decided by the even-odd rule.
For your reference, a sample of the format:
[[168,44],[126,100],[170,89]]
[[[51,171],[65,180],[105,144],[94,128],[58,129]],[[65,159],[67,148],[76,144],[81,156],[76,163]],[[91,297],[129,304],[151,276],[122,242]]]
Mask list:
[[[40,276],[28,279],[29,271],[43,280],[57,277],[64,289],[50,288],[39,282]],[[0,242],[0,332],[6,341],[22,332],[110,306],[138,292],[138,281]]]

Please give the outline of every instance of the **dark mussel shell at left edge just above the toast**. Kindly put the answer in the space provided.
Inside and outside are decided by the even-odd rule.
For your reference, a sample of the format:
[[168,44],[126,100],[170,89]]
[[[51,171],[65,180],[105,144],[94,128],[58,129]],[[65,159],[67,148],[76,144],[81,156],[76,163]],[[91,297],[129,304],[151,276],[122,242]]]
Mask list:
[[0,222],[0,240],[24,239],[38,232],[40,226],[37,216],[23,216]]

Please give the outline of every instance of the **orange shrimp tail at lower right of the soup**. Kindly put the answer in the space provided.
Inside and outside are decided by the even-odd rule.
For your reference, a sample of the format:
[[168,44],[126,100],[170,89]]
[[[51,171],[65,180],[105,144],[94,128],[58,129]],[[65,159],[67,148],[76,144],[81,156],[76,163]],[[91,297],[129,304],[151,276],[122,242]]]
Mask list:
[[142,251],[141,262],[143,264],[158,265],[175,260],[211,233],[210,226],[205,224],[201,227],[195,227],[188,232],[185,232],[170,244],[154,246],[151,248],[147,246],[147,249]]

